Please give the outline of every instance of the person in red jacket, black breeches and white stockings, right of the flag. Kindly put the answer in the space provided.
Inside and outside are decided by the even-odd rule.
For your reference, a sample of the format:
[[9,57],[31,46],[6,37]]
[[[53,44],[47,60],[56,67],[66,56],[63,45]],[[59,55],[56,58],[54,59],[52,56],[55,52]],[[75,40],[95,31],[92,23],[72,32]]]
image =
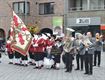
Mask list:
[[34,59],[36,62],[36,68],[41,69],[43,65],[44,52],[45,52],[45,40],[41,34],[38,34],[38,38],[34,41]]

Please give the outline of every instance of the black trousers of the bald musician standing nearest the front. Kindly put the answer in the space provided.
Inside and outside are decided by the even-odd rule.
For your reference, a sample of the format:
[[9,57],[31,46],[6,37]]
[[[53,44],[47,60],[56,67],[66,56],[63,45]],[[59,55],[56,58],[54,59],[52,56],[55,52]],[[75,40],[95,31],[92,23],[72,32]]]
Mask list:
[[93,54],[85,53],[85,73],[93,73]]

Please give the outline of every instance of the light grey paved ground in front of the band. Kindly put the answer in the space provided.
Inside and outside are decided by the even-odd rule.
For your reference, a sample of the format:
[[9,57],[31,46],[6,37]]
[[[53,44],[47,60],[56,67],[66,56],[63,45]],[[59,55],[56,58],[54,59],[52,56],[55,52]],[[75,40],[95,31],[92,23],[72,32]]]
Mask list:
[[84,75],[84,71],[75,71],[75,66],[72,73],[65,73],[63,66],[60,70],[45,68],[37,70],[33,67],[10,65],[7,56],[3,56],[0,63],[0,80],[105,80],[105,52],[102,53],[101,66],[94,67],[93,75]]

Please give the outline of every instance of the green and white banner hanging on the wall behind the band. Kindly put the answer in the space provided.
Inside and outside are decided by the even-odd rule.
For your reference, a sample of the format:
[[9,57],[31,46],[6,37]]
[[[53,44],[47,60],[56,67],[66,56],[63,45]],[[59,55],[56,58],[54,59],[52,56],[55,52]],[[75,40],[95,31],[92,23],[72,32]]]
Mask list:
[[61,36],[63,33],[63,17],[53,17],[53,33]]

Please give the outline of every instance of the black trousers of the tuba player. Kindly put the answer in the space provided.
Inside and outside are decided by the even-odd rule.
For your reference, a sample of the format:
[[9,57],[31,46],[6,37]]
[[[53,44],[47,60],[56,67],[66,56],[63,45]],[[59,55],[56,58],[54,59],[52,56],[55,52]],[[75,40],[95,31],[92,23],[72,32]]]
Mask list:
[[72,71],[72,61],[73,61],[73,55],[70,53],[65,54],[65,62],[66,62],[66,70]]

